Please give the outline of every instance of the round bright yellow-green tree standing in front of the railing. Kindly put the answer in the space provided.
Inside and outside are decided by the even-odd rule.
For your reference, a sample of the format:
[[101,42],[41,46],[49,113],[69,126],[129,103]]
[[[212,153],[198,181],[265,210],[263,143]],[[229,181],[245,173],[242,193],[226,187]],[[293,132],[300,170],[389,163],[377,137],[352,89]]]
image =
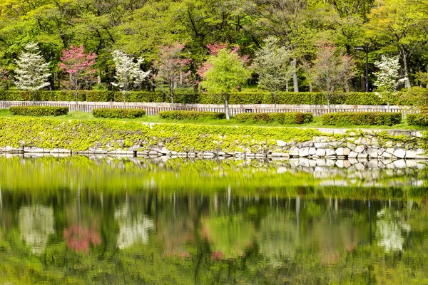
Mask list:
[[227,120],[230,119],[230,93],[245,84],[251,74],[245,68],[245,63],[245,58],[238,56],[236,49],[228,51],[223,48],[217,54],[212,54],[199,72],[204,79],[201,86],[223,100]]

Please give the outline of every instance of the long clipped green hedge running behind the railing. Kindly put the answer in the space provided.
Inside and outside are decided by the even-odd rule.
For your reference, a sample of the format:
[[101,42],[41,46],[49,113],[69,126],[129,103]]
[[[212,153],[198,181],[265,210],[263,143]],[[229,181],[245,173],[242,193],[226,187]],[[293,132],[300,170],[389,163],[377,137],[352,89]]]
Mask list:
[[[401,95],[402,94],[402,95]],[[400,95],[389,99],[390,105],[412,105],[409,98],[412,92],[403,91]],[[39,91],[35,95],[36,101],[74,101],[75,94],[72,90],[63,91]],[[6,90],[0,93],[0,100],[6,101],[30,101],[31,93],[25,91]],[[123,102],[120,92],[108,90],[81,90],[78,93],[79,101],[88,102]],[[126,96],[127,102],[170,102],[170,98],[161,91],[133,91]],[[174,103],[201,103],[201,104],[223,104],[223,101],[208,93],[177,92]],[[270,93],[266,92],[237,92],[230,95],[230,104],[273,104],[274,100]],[[379,98],[375,93],[337,93],[331,104],[347,105],[386,105],[386,101]],[[325,105],[327,100],[323,93],[317,92],[280,92],[277,94],[277,104],[310,104]]]

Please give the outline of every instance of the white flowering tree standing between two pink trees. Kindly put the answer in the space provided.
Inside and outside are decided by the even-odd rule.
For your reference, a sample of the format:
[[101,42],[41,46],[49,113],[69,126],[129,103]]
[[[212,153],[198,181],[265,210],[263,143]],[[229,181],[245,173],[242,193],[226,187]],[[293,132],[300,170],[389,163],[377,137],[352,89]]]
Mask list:
[[140,68],[144,58],[128,56],[123,51],[113,51],[113,61],[116,66],[116,82],[112,82],[123,94],[123,104],[126,105],[126,95],[129,91],[137,88],[150,74],[150,71],[142,71]]

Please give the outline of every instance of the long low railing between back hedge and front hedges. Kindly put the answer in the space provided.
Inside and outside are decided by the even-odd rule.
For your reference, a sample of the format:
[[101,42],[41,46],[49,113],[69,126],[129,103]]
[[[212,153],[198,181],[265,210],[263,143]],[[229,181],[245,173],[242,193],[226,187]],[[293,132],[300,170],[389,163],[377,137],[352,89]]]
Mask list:
[[[0,108],[10,108],[14,106],[57,106],[68,107],[71,112],[81,111],[91,113],[94,108],[133,108],[144,109],[147,115],[158,115],[161,111],[169,110],[198,110],[223,113],[223,105],[203,105],[203,104],[171,104],[171,103],[123,103],[118,102],[61,102],[61,101],[0,101]],[[288,112],[302,112],[313,113],[315,116],[328,113],[327,105],[277,105],[275,111],[274,105],[230,105],[230,115],[240,113],[288,113]],[[402,113],[405,118],[407,114],[419,113],[414,108],[406,106],[392,105],[389,108],[385,105],[330,105],[330,113],[337,112],[394,112]]]

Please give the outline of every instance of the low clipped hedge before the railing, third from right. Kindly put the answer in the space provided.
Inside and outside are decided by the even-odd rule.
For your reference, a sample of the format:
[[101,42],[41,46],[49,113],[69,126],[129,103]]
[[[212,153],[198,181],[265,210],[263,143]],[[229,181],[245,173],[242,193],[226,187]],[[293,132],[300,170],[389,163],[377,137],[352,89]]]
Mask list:
[[307,124],[313,122],[312,113],[242,113],[235,115],[238,122],[263,122],[263,123],[280,123],[280,124]]

